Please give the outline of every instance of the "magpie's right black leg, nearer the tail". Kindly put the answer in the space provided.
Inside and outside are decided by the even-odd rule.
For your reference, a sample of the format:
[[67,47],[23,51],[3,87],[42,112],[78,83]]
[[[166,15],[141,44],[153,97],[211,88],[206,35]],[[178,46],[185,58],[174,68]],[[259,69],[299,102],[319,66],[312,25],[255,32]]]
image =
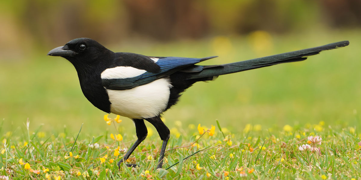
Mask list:
[[169,140],[170,131],[169,131],[168,127],[160,119],[160,116],[148,118],[145,120],[150,122],[157,129],[160,139],[163,140],[162,148],[160,150],[160,156],[159,156],[157,169],[162,168],[165,148],[166,148],[168,140]]

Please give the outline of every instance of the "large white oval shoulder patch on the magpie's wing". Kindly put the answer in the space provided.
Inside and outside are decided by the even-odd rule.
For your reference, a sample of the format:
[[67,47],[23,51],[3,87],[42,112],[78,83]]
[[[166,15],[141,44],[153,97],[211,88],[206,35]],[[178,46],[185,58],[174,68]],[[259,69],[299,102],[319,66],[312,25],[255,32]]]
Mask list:
[[105,69],[100,77],[102,79],[125,79],[142,75],[147,71],[129,66],[118,66],[115,68]]

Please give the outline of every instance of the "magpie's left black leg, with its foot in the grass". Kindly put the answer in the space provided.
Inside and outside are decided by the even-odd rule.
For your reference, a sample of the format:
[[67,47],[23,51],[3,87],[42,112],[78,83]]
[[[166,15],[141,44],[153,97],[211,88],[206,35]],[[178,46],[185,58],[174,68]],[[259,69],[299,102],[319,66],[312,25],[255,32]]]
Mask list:
[[[123,158],[118,162],[118,167],[120,167],[120,163],[122,163],[123,161],[126,161],[129,158],[130,154],[135,150],[135,148],[138,147],[138,145],[145,138],[147,138],[148,130],[147,130],[147,127],[144,124],[144,120],[142,120],[142,119],[133,119],[133,122],[135,124],[135,131],[136,131],[136,136],[138,137],[138,139],[129,148],[128,152],[125,153]],[[127,164],[127,166],[128,167],[135,167],[136,164]]]

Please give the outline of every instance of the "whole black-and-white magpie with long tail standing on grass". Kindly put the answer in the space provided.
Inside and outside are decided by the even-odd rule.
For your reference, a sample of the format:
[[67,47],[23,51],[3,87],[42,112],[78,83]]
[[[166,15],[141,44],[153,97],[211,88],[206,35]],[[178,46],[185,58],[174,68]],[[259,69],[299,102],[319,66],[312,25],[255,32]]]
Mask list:
[[[151,57],[135,53],[114,53],[97,41],[78,38],[49,51],[75,67],[84,96],[97,108],[130,118],[138,139],[118,162],[129,158],[147,137],[144,120],[155,126],[163,141],[157,168],[163,164],[170,131],[161,114],[178,102],[188,87],[198,81],[214,80],[219,75],[246,71],[280,63],[296,62],[323,50],[349,45],[349,41],[335,42],[316,48],[271,55],[229,64],[195,65],[216,58]],[[135,167],[135,164],[127,164]]]

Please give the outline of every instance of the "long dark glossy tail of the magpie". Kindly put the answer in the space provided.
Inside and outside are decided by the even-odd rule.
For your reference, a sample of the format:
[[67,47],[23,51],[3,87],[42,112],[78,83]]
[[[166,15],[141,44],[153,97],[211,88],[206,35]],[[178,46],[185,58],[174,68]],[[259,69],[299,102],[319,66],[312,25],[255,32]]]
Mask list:
[[249,69],[256,69],[266,66],[272,66],[280,63],[296,62],[307,59],[307,56],[318,54],[323,50],[335,49],[349,45],[349,41],[340,41],[324,46],[318,46],[316,48],[303,49],[298,51],[292,51],[288,53],[282,53],[277,55],[271,55],[263,58],[256,58],[251,60],[245,60],[230,64],[221,64],[213,66],[198,66],[193,65],[186,69],[182,69],[180,72],[187,73],[188,80],[211,80],[215,76],[225,75],[240,71],[247,71]]

